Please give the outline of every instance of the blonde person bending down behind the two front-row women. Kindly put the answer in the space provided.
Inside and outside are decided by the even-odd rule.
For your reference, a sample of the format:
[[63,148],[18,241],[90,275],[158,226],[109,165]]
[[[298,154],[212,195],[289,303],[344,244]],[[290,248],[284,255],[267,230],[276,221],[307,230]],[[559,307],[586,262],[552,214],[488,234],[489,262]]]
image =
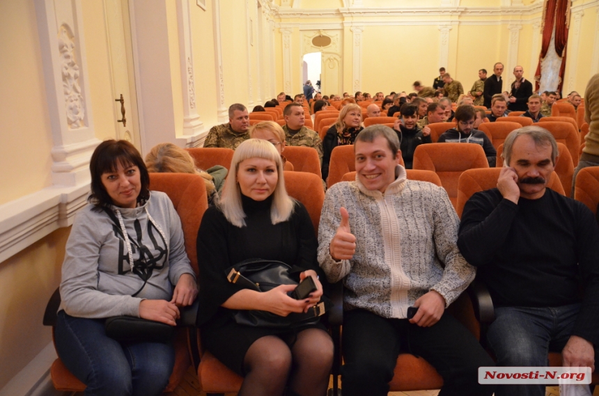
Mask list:
[[173,143],[160,143],[155,145],[146,155],[146,166],[150,173],[195,173],[203,177],[206,184],[208,203],[213,204],[218,200],[218,192],[226,177],[224,166],[210,168],[212,174],[196,168],[194,159],[189,152]]

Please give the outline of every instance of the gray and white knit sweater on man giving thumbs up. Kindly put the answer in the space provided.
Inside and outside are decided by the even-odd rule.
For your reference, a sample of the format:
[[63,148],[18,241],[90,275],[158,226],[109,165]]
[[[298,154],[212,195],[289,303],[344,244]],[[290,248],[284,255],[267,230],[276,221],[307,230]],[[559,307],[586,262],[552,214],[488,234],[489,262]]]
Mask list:
[[[460,221],[442,187],[406,180],[398,166],[395,182],[384,193],[368,191],[359,181],[340,182],[327,191],[318,229],[318,262],[329,282],[343,279],[345,310],[363,308],[387,318],[403,319],[407,307],[430,290],[446,306],[474,279],[456,241]],[[356,251],[336,262],[329,244],[350,214]]]

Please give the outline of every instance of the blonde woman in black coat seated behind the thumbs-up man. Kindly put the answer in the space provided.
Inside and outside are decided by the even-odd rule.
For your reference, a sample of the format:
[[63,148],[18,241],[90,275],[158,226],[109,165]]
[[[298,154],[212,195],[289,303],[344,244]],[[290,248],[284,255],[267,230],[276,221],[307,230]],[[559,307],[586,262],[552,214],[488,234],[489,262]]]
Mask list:
[[329,128],[322,140],[322,180],[329,176],[331,152],[338,145],[354,144],[354,139],[364,127],[361,126],[362,110],[357,104],[347,104],[339,112],[337,121]]

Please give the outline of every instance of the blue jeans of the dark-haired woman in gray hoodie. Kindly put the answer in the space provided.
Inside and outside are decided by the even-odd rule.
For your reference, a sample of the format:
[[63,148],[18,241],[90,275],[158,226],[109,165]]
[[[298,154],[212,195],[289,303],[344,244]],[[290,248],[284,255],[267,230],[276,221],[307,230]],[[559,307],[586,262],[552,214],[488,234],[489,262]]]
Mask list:
[[160,395],[175,364],[172,344],[123,342],[107,337],[104,319],[56,321],[56,350],[64,365],[86,384],[85,395]]

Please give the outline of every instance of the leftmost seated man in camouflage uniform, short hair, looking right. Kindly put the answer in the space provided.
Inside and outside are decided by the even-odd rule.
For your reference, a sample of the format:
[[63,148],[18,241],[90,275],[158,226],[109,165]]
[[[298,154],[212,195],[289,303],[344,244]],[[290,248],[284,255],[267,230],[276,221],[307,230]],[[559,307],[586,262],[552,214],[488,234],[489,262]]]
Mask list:
[[[279,95],[280,96],[280,95]],[[222,147],[235,150],[242,141],[249,139],[249,114],[243,104],[231,104],[228,108],[228,122],[210,128],[204,147]]]

